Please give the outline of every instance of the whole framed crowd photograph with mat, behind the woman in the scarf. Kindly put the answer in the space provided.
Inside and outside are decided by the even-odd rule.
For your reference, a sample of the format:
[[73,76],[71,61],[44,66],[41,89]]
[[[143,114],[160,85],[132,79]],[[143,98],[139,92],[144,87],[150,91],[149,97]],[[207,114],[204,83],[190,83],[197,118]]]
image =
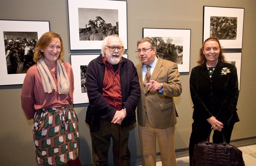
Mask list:
[[50,31],[49,21],[0,20],[0,85],[23,84],[34,65],[38,39]]

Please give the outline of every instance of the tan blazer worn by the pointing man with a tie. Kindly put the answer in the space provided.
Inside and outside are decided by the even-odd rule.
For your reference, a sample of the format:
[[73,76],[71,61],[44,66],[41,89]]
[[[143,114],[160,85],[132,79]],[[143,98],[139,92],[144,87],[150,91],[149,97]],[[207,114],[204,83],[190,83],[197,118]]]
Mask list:
[[150,80],[163,83],[164,94],[160,95],[158,91],[150,91],[147,95],[142,80],[142,63],[136,65],[138,72],[141,97],[137,109],[138,124],[145,126],[145,115],[147,110],[148,121],[154,128],[164,129],[172,127],[177,123],[176,109],[173,97],[180,96],[181,78],[178,72],[178,65],[169,60],[163,60],[158,57],[157,64]]

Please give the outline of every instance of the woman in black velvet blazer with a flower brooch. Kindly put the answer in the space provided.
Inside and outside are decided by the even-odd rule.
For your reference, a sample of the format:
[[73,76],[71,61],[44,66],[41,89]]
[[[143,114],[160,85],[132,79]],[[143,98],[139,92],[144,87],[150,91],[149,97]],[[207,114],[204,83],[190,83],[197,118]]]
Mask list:
[[230,142],[234,123],[239,121],[236,105],[239,96],[236,66],[226,63],[220,42],[208,38],[200,49],[198,66],[190,75],[190,94],[194,104],[189,143],[190,166],[194,145],[206,141],[213,127],[213,142]]

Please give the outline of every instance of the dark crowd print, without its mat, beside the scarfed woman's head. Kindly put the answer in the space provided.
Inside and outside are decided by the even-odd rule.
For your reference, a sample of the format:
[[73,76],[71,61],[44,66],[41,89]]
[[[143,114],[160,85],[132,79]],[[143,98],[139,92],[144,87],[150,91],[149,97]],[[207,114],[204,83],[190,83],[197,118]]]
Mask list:
[[27,73],[35,64],[34,48],[38,41],[37,32],[3,32],[6,52],[7,74]]

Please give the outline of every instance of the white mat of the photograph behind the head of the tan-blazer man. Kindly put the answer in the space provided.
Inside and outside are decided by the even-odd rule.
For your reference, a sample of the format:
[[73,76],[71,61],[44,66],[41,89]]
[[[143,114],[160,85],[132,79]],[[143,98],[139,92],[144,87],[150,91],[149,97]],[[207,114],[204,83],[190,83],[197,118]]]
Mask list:
[[178,64],[179,72],[190,71],[190,29],[143,28],[143,37],[183,38],[183,63]]

